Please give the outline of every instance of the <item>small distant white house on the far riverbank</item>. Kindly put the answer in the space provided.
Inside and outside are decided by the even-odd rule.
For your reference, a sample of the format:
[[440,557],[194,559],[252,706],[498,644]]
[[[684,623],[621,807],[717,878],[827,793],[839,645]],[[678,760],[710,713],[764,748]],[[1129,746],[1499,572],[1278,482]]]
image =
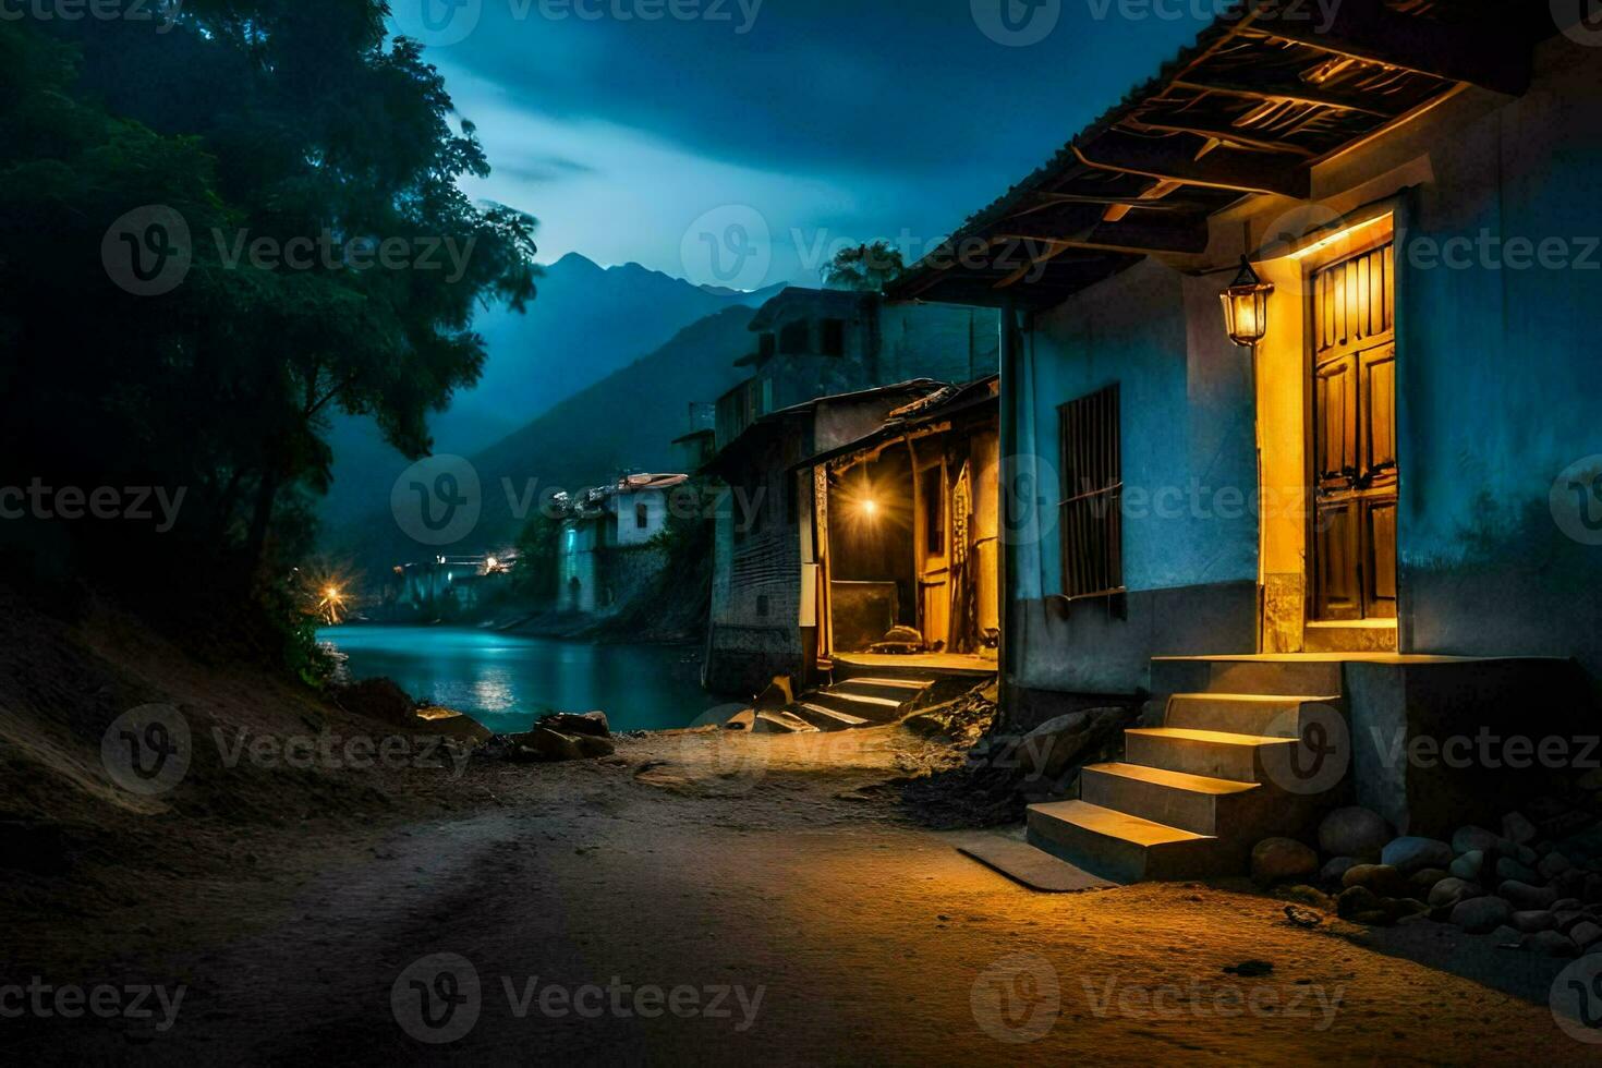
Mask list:
[[668,525],[682,474],[630,474],[572,498],[556,548],[556,604],[562,612],[607,615],[630,591],[660,573],[665,556],[652,541]]

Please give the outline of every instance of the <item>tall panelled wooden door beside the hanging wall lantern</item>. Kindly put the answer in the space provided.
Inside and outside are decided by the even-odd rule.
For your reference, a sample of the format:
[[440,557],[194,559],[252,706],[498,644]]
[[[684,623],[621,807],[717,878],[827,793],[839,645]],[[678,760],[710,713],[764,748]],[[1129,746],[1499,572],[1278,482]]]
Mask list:
[[1395,258],[1314,275],[1314,620],[1397,615]]

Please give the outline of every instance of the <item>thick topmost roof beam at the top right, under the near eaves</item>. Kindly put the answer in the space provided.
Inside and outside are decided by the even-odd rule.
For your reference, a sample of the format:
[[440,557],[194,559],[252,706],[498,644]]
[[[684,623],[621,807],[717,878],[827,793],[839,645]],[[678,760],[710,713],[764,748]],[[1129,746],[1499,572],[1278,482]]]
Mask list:
[[1397,14],[1381,0],[1341,0],[1328,11],[1304,5],[1253,11],[1246,32],[1522,96],[1530,88],[1533,42],[1525,40],[1519,19],[1511,27],[1501,19],[1437,22]]

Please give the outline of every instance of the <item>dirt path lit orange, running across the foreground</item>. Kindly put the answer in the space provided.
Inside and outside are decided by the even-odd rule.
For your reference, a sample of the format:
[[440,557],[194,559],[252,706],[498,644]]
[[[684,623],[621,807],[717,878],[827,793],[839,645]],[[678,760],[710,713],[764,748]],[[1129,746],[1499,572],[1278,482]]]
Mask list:
[[[485,799],[466,812],[261,842],[256,865],[160,901],[133,893],[127,916],[13,932],[38,954],[13,961],[72,959],[72,982],[187,985],[165,1033],[35,1020],[18,1063],[1592,1054],[1544,1004],[1354,943],[1333,919],[1293,927],[1269,898],[1024,890],[860,793],[905,764],[892,740],[655,737],[609,764],[474,767],[437,785]],[[1248,959],[1272,972],[1224,970]]]

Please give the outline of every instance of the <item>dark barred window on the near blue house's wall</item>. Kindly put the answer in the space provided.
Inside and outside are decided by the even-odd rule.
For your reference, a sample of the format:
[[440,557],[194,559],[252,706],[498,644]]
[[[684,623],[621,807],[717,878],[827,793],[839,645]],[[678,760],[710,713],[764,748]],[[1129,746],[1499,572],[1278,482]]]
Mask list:
[[1062,592],[1123,592],[1123,456],[1118,386],[1070,400],[1062,421]]

